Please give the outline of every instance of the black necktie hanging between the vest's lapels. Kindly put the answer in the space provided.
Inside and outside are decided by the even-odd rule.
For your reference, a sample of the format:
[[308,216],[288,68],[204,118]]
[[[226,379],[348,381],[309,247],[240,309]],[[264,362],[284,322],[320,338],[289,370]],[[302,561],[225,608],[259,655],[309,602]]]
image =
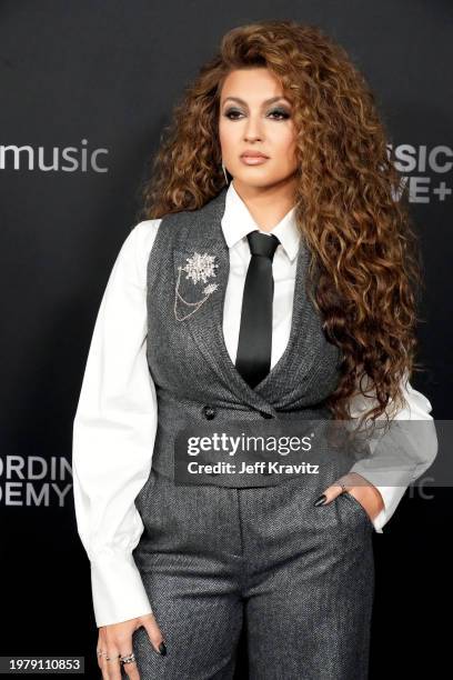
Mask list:
[[274,291],[272,260],[280,241],[273,233],[268,236],[258,230],[248,233],[246,238],[252,257],[242,298],[235,366],[253,388],[271,368]]

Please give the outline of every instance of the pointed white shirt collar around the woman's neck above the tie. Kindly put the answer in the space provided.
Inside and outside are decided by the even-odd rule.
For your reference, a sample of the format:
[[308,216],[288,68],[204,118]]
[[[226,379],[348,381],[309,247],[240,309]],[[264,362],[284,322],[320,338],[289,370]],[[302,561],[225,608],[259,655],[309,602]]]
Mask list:
[[[250,231],[258,229],[263,231],[256,224],[244,201],[235,191],[231,181],[225,197],[225,210],[221,220],[223,236],[229,248],[232,248],[238,241],[245,238]],[[294,260],[299,251],[300,232],[295,221],[295,206],[280,220],[270,232],[280,240],[285,253],[290,260]]]

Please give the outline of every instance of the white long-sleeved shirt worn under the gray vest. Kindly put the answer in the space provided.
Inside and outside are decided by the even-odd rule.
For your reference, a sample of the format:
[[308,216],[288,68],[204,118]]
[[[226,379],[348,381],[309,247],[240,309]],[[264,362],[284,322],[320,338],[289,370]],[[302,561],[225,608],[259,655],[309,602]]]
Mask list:
[[[271,368],[290,336],[300,232],[292,208],[271,230],[279,240],[273,259],[274,298]],[[147,362],[147,266],[161,219],[138,223],[125,238],[111,270],[98,311],[73,421],[72,471],[78,531],[91,564],[98,626],[117,623],[152,611],[132,557],[143,531],[134,499],[148,480],[158,422],[155,387]],[[246,234],[260,230],[231,182],[222,230],[230,252],[224,298],[223,333],[235,362],[241,301],[251,258]],[[152,319],[150,320],[152,323]],[[407,407],[395,418],[431,420],[430,401],[403,386]],[[351,400],[351,416],[369,410],[362,396]],[[422,466],[437,451],[432,434],[423,444]],[[419,452],[420,456],[420,452]],[[360,463],[352,470],[361,472]],[[364,472],[370,481],[372,472]],[[376,488],[384,509],[373,520],[375,531],[394,513],[407,486]]]

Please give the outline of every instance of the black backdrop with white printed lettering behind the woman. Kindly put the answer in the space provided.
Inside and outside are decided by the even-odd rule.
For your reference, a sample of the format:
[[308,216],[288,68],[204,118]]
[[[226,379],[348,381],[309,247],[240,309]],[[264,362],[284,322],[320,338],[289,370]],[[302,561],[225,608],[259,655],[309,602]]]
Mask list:
[[[452,13],[447,0],[0,3],[0,656],[84,656],[87,677],[97,677],[89,563],[64,468],[72,419],[100,299],[137,221],[139,183],[183,86],[233,26],[318,23],[371,82],[424,253],[426,371],[413,384],[436,419],[450,418]],[[451,526],[449,496],[410,489],[373,537],[372,678],[446,667],[436,621],[450,587],[439,540]],[[246,677],[241,649],[238,677]]]

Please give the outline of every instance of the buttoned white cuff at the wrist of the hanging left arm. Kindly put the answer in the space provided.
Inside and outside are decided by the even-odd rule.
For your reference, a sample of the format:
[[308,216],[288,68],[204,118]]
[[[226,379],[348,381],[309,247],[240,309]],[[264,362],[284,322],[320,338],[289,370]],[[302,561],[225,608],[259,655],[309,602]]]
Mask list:
[[91,589],[98,628],[152,613],[132,553],[95,557],[91,561]]

